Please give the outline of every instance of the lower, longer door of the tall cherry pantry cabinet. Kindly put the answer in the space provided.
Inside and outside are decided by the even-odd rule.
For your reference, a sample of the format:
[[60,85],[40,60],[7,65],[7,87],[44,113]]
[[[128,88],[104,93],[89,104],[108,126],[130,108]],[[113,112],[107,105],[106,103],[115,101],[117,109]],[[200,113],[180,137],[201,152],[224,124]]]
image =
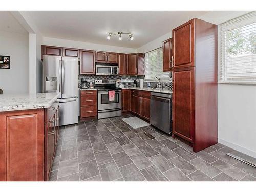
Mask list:
[[173,133],[193,142],[194,136],[194,68],[173,72]]

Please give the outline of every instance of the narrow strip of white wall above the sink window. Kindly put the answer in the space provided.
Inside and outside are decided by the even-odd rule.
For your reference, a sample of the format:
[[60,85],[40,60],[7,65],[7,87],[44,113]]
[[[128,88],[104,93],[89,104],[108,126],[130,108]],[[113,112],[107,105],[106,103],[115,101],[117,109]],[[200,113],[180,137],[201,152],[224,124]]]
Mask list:
[[172,37],[172,32],[169,32],[161,37],[158,37],[157,39],[148,42],[147,44],[139,47],[137,49],[138,53],[146,53],[148,51],[152,51],[154,49],[157,49],[159,47],[163,46],[163,41],[169,39],[170,37]]

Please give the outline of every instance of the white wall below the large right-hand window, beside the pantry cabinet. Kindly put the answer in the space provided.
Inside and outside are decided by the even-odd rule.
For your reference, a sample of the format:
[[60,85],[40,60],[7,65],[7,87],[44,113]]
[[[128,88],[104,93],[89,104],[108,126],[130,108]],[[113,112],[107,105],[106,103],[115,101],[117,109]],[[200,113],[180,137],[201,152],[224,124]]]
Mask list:
[[218,138],[256,158],[256,85],[218,84]]

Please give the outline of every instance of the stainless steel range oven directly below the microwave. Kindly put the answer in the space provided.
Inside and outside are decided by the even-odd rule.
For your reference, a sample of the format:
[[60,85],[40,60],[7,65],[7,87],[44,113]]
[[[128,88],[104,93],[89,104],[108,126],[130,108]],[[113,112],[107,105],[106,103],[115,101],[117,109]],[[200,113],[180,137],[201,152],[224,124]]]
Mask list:
[[[122,89],[116,88],[114,80],[95,80],[98,89],[98,119],[122,115]],[[115,91],[114,101],[109,100],[109,91]]]

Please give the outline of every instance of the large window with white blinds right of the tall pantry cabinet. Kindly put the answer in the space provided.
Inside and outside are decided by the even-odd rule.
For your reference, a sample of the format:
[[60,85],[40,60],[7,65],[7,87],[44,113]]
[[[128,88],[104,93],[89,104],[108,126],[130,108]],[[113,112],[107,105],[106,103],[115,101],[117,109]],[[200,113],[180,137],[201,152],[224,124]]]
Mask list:
[[220,83],[256,83],[256,12],[220,25]]

